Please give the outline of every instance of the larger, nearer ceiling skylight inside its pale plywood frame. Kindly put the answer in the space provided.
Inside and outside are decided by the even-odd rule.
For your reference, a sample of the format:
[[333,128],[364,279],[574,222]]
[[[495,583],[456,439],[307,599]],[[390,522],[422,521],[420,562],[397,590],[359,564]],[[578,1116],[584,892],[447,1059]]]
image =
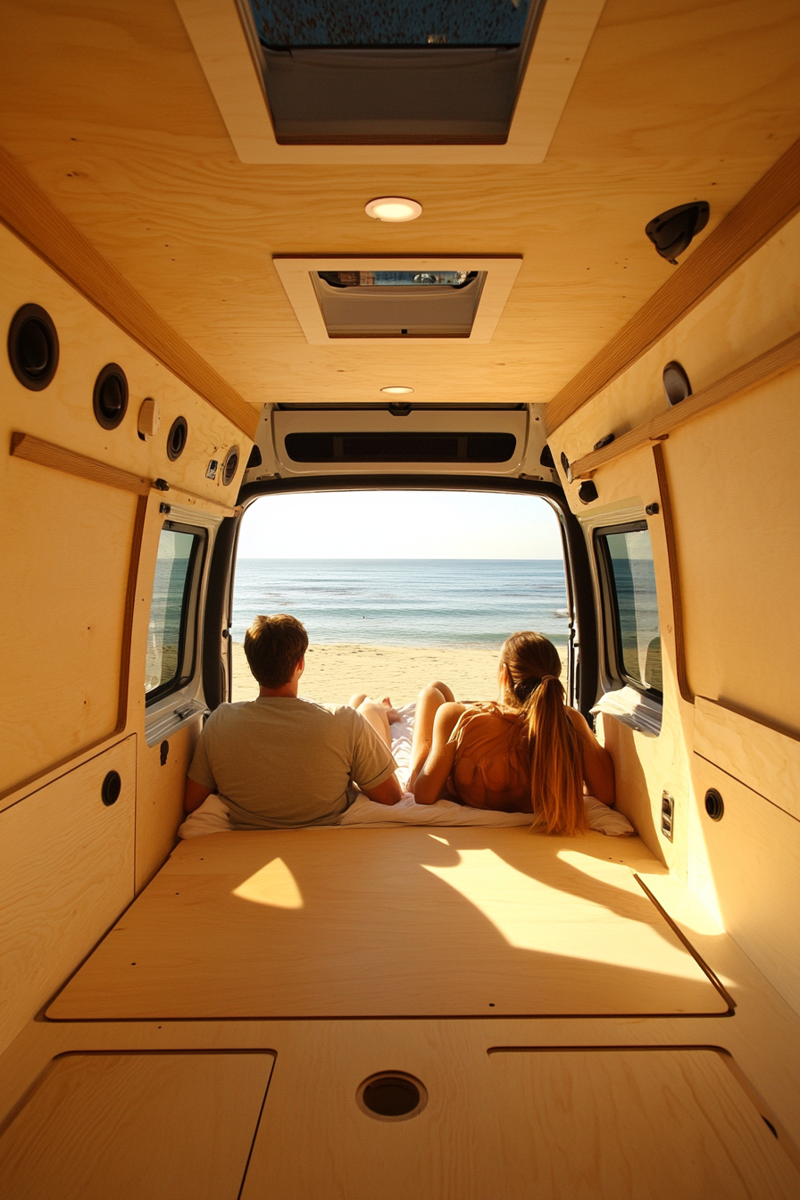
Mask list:
[[503,144],[543,0],[240,0],[283,144]]

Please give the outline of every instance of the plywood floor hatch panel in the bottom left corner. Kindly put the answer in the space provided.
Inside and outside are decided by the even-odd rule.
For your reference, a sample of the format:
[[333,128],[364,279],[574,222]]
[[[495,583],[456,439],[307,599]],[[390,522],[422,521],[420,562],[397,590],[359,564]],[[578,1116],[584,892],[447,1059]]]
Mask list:
[[237,1200],[271,1054],[67,1054],[0,1140],[6,1200]]

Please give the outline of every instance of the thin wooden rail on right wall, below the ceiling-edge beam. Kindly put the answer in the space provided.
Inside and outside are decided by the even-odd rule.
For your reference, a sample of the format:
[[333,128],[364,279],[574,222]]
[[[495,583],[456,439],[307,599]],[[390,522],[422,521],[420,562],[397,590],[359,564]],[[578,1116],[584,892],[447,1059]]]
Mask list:
[[723,376],[722,379],[717,379],[687,400],[682,400],[680,404],[675,404],[666,413],[660,413],[651,420],[637,425],[636,428],[624,433],[610,445],[603,446],[602,450],[593,450],[582,458],[576,458],[571,464],[572,478],[591,479],[599,467],[604,467],[614,458],[630,454],[631,450],[638,450],[639,446],[650,442],[663,442],[673,430],[697,416],[698,413],[705,412],[723,400],[739,396],[750,388],[756,388],[757,384],[774,379],[796,366],[800,366],[800,334],[787,337],[784,342],[780,342],[764,354],[759,354],[758,358],[751,359],[742,367],[738,367],[730,374]]

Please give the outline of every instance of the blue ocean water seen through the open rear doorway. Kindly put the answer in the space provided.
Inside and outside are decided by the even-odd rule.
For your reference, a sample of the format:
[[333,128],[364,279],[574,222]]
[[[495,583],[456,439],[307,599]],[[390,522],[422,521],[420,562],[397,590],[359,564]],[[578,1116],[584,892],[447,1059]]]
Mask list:
[[288,612],[312,644],[492,647],[519,629],[567,641],[560,559],[240,558],[233,638]]

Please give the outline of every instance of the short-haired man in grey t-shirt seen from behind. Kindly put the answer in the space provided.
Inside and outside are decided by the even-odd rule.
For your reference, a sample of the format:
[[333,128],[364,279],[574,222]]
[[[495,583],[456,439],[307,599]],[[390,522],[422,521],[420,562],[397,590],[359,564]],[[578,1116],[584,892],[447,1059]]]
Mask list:
[[245,653],[258,700],[221,704],[206,721],[186,779],[186,811],[212,792],[236,829],[336,824],[353,784],[379,804],[402,792],[391,751],[360,712],[297,697],[306,630],[283,613],[257,617]]

